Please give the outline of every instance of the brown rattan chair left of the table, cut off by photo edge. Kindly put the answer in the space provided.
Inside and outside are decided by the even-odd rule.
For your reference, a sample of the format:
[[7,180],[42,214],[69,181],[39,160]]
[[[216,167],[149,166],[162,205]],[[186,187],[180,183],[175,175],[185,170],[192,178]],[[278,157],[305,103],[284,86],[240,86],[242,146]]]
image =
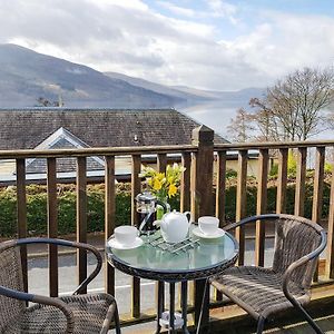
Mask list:
[[[22,245],[52,244],[91,252],[97,258],[94,272],[72,296],[47,297],[23,292],[20,250]],[[24,238],[0,244],[0,332],[10,333],[107,333],[111,321],[120,333],[117,304],[105,293],[79,294],[101,269],[102,257],[92,246],[51,238]],[[27,302],[32,302],[27,306]],[[29,303],[31,304],[31,303]]]

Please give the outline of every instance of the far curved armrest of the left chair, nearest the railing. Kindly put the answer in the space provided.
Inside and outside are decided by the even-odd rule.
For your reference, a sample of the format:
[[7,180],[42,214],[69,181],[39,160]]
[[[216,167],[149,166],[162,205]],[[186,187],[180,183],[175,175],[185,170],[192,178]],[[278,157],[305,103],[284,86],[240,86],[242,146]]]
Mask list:
[[82,243],[77,243],[77,242],[69,242],[69,240],[63,240],[63,239],[55,239],[55,238],[22,238],[22,239],[17,239],[16,245],[17,246],[22,246],[22,245],[30,245],[30,244],[50,244],[50,245],[57,245],[57,246],[66,246],[66,247],[72,247],[72,248],[79,248],[79,249],[86,249],[91,252],[96,259],[97,259],[97,265],[92,273],[84,279],[84,282],[76,288],[73,294],[79,294],[87,287],[87,285],[98,275],[102,267],[102,256],[99,253],[99,250],[88,244],[82,244]]

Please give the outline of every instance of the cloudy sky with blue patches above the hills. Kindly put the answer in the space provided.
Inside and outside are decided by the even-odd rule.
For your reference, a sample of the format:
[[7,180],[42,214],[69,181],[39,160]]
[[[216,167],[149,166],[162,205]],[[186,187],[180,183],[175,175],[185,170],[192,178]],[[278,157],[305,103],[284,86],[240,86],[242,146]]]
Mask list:
[[209,90],[332,67],[333,31],[332,0],[0,0],[0,43]]

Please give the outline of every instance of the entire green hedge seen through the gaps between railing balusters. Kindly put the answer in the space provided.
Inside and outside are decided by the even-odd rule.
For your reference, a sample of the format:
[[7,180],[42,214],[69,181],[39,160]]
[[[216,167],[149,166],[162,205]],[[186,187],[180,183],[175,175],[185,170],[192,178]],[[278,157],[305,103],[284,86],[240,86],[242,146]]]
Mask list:
[[[328,214],[330,189],[328,183],[324,184],[323,217]],[[254,180],[247,186],[246,215],[256,213],[256,183]],[[267,212],[276,209],[276,186],[268,187]],[[295,186],[287,187],[288,214],[294,212]],[[305,194],[305,217],[312,216],[313,183],[308,181]],[[60,186],[58,189],[58,232],[59,235],[76,232],[76,191],[75,186]],[[88,186],[88,217],[87,230],[102,232],[105,228],[105,188],[104,185]],[[118,185],[116,191],[116,225],[129,224],[130,222],[131,195],[129,185]],[[171,208],[179,209],[179,197],[169,200]],[[236,212],[236,185],[229,185],[226,189],[226,220],[234,222]],[[17,197],[16,188],[0,189],[0,236],[13,237],[17,234]],[[27,186],[27,223],[29,235],[47,234],[47,188],[46,186]]]

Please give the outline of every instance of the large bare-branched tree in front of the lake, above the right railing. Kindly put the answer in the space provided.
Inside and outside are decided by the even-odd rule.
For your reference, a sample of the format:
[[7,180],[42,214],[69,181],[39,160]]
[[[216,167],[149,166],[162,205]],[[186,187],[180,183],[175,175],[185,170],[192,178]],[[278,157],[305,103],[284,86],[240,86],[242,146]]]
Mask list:
[[333,101],[332,69],[296,70],[269,87],[264,99],[250,99],[256,139],[306,140],[323,130],[322,110]]

